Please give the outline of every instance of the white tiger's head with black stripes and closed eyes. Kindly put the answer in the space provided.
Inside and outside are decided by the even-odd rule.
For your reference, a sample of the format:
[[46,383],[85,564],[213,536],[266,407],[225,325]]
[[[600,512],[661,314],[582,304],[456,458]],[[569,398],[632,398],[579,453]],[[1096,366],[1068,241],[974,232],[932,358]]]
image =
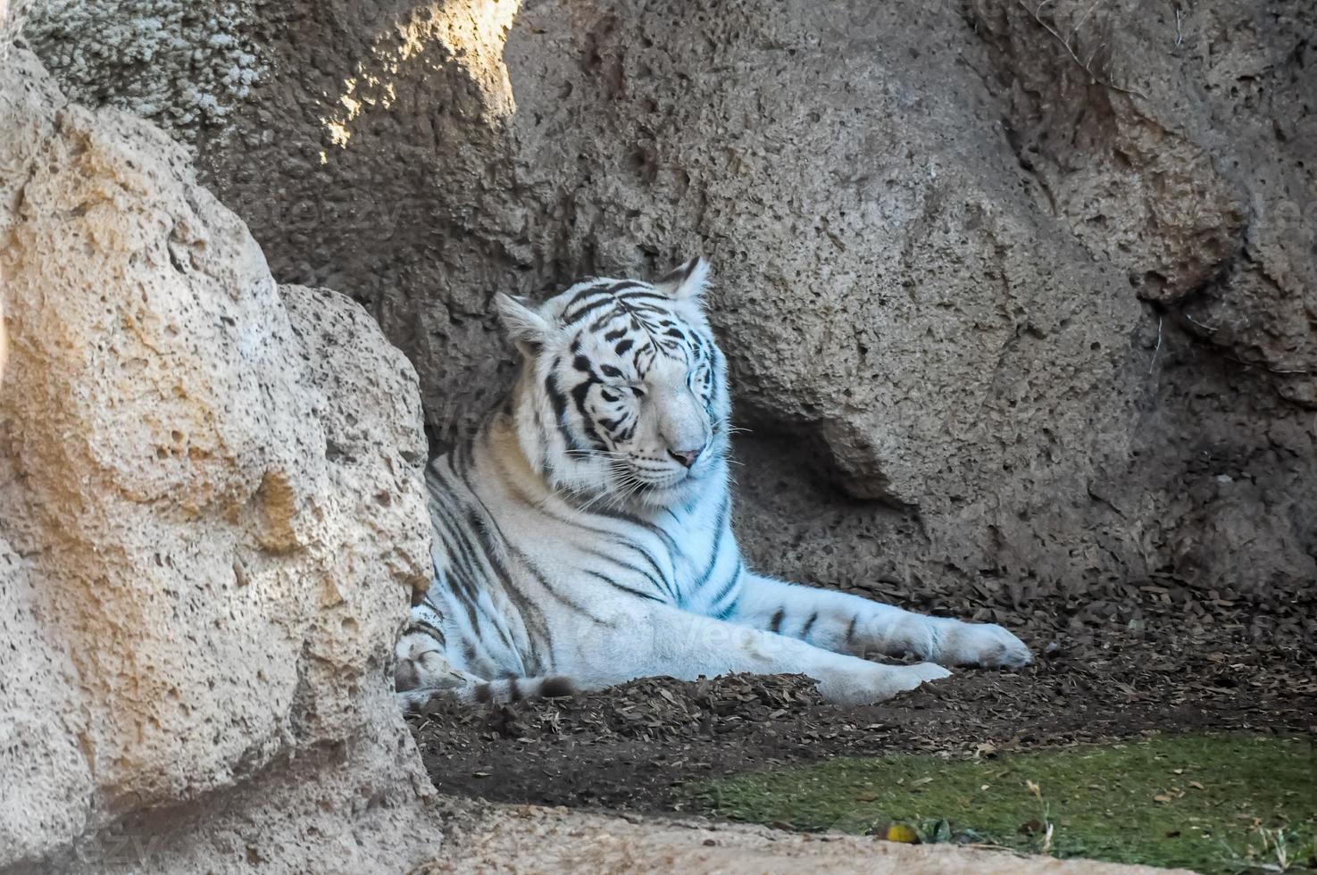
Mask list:
[[522,354],[523,452],[560,493],[598,506],[672,507],[726,477],[727,364],[691,258],[655,283],[591,278],[543,304],[498,296]]

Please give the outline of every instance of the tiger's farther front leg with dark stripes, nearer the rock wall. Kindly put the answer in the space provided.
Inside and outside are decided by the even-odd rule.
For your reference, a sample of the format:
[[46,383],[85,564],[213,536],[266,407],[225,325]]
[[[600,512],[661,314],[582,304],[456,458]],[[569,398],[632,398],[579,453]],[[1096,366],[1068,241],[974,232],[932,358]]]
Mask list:
[[914,654],[942,665],[1018,668],[1033,654],[992,623],[926,617],[890,605],[745,573],[727,602],[731,622],[799,638],[839,654]]

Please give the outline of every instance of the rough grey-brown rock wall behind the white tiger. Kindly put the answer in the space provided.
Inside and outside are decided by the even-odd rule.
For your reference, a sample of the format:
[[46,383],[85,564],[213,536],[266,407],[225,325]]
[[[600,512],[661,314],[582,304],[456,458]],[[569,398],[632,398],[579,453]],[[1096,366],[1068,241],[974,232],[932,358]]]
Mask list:
[[1310,4],[194,9],[28,36],[194,148],[275,275],[366,304],[432,445],[507,385],[495,291],[703,250],[760,565],[932,607],[1310,597]]

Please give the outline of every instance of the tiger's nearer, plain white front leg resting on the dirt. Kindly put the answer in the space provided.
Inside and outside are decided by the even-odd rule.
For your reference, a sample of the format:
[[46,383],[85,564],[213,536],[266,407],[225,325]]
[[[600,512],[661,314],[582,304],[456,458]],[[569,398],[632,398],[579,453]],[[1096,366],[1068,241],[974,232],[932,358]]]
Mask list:
[[860,705],[892,698],[950,673],[932,663],[871,663],[666,605],[635,605],[616,622],[594,627],[578,640],[573,664],[554,668],[583,689],[662,675],[695,680],[734,672],[803,673],[818,681],[828,701]]

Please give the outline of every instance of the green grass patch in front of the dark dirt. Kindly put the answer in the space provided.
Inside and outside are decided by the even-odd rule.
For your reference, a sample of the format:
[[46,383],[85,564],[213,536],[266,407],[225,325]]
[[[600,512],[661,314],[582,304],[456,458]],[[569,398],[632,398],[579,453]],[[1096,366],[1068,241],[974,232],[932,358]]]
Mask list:
[[1317,867],[1312,739],[1156,735],[979,759],[898,755],[691,789],[705,812],[799,830],[1001,845],[1200,872]]

